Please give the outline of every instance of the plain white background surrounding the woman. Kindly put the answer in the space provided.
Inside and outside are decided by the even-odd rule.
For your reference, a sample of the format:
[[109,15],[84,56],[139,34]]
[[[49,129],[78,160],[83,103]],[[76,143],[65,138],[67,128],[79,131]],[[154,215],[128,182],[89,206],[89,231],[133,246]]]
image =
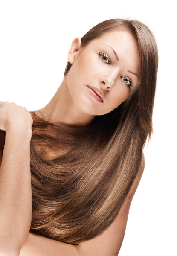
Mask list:
[[145,23],[159,51],[154,134],[144,149],[145,170],[119,256],[177,256],[174,1],[0,1],[0,101],[43,108],[63,80],[73,39],[112,18]]

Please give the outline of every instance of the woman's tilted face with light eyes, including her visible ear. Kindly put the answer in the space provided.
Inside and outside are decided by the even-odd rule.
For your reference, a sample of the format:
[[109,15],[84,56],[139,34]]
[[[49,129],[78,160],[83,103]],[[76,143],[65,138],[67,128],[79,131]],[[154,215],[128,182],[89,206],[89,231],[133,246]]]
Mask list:
[[[72,64],[67,74],[68,89],[79,108],[90,115],[109,113],[139,84],[136,39],[125,31],[107,32],[85,47],[81,47],[80,38],[75,38],[68,61]],[[99,89],[103,102],[96,100],[88,87]]]

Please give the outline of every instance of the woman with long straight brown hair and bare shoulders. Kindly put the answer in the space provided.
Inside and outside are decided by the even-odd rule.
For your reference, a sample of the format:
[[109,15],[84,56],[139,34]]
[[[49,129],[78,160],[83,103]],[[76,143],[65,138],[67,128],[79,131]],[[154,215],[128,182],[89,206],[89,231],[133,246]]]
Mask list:
[[[64,79],[44,108],[30,111],[30,116],[15,103],[1,102],[0,128],[9,143],[5,141],[4,151],[6,147],[6,155],[15,154],[9,148],[20,127],[26,149],[21,149],[23,168],[28,166],[19,190],[26,204],[14,219],[22,220],[23,228],[19,232],[13,221],[19,235],[12,236],[9,251],[28,255],[33,246],[36,255],[59,250],[60,255],[119,253],[144,169],[142,150],[153,131],[157,68],[157,44],[145,24],[105,20],[73,40]],[[26,143],[21,130],[27,130]],[[4,174],[7,166],[3,152]]]

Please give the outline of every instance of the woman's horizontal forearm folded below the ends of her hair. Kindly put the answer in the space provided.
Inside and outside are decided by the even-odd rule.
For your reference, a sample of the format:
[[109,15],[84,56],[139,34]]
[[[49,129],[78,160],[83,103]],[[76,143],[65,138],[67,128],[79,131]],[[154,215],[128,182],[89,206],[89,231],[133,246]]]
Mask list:
[[78,247],[29,232],[20,256],[80,256]]

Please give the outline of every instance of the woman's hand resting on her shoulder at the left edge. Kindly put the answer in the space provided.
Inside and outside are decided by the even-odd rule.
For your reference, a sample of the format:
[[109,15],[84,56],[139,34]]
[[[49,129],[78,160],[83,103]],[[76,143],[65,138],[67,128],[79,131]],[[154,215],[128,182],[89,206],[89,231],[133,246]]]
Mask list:
[[10,127],[20,125],[32,128],[33,119],[29,111],[14,102],[0,101],[0,130],[6,131]]

